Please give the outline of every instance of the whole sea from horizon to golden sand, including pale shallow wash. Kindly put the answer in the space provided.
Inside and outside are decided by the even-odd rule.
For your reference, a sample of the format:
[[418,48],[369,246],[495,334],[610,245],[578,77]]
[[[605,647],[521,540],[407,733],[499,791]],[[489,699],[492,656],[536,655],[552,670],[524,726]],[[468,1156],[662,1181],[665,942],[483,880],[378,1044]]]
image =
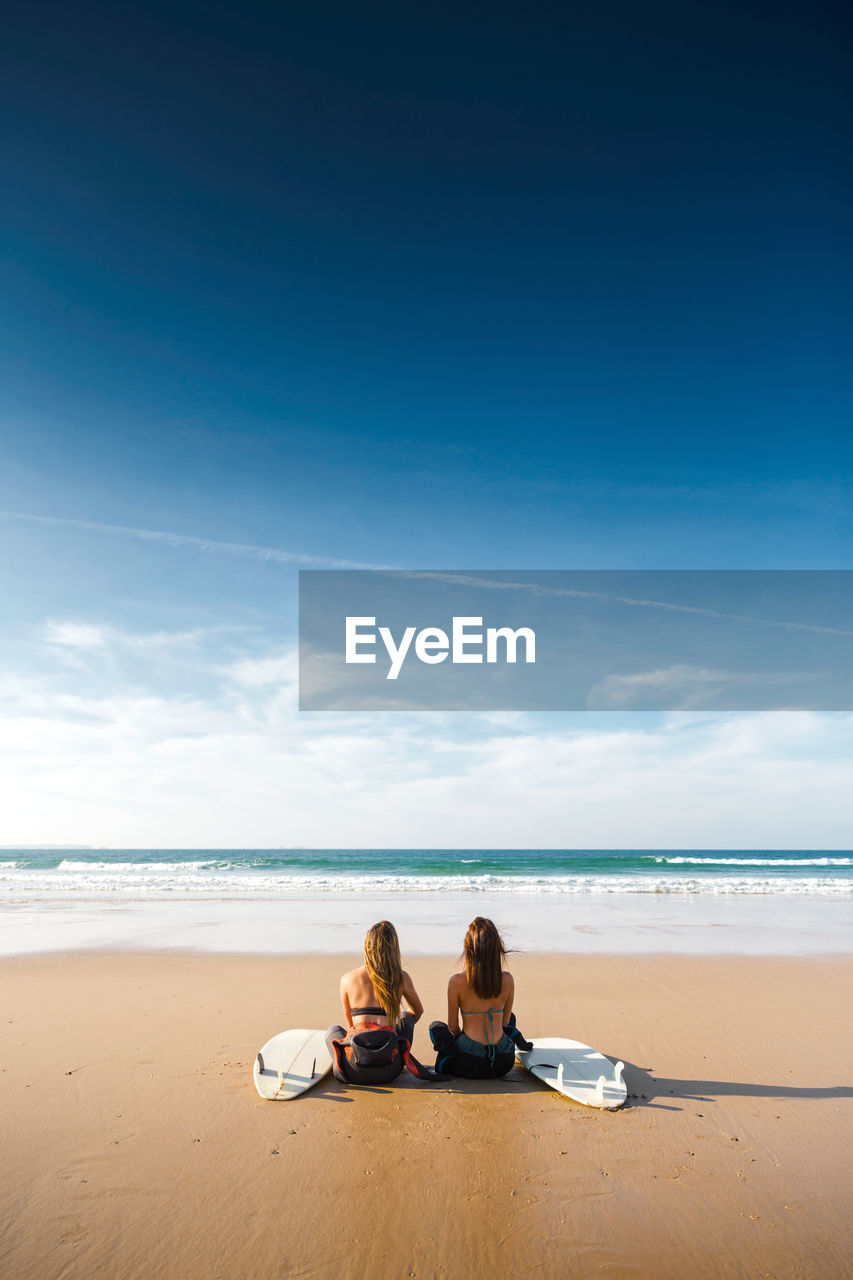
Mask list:
[[0,954],[346,952],[397,924],[457,955],[474,915],[519,950],[849,954],[853,854],[674,849],[4,849]]

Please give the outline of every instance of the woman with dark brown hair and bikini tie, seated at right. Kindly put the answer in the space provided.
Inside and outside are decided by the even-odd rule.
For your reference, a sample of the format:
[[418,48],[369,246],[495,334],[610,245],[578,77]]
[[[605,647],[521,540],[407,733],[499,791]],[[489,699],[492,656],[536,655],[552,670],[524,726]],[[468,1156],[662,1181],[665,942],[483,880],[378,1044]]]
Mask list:
[[447,1021],[429,1024],[437,1071],[469,1079],[506,1075],[516,1046],[533,1048],[515,1025],[515,982],[503,968],[506,954],[492,920],[471,920],[462,948],[465,972],[447,983]]

